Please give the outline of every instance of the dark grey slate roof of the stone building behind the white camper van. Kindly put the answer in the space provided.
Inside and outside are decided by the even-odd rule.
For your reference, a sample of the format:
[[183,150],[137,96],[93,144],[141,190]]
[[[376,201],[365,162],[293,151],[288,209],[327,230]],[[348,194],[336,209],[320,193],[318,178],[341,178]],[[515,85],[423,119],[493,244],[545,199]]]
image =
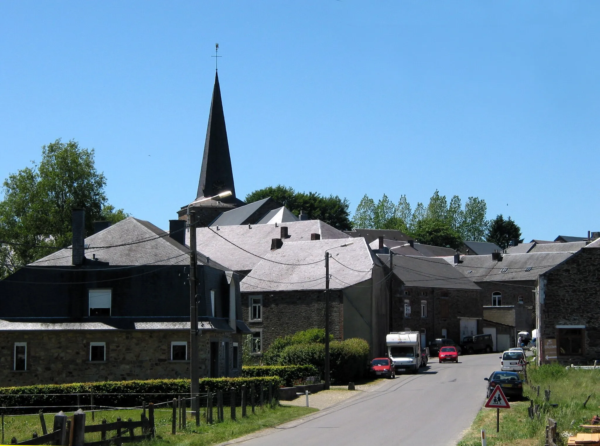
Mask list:
[[[386,263],[389,259],[385,254],[379,254],[379,258]],[[407,287],[480,289],[443,258],[394,255],[392,259],[394,274]]]

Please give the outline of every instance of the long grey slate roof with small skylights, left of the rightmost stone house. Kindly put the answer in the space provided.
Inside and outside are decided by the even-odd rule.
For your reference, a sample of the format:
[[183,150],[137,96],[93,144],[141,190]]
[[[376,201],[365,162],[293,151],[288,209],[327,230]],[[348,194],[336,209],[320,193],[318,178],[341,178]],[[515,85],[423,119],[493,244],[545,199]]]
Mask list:
[[491,255],[462,255],[458,264],[454,264],[454,257],[445,260],[474,282],[534,281],[571,255],[572,252],[532,252],[503,254],[502,261],[491,260]]

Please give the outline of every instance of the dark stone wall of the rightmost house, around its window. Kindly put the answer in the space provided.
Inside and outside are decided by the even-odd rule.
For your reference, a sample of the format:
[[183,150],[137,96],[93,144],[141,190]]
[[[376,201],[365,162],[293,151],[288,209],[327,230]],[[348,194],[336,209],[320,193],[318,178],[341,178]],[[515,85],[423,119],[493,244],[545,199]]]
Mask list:
[[[558,337],[558,360],[562,363],[593,363],[600,359],[600,248],[583,248],[545,275],[541,306],[542,342]],[[581,354],[561,354],[556,326],[585,326]],[[543,356],[543,352],[542,352]]]

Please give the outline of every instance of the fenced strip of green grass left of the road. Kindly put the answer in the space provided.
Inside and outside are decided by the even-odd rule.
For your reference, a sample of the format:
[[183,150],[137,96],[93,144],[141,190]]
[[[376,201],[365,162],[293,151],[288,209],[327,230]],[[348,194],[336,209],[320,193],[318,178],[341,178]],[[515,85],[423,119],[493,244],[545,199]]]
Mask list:
[[[179,430],[176,435],[171,435],[171,410],[156,410],[155,414],[155,426],[157,430],[157,436],[151,441],[145,441],[142,444],[146,445],[194,445],[204,446],[217,444],[220,442],[228,441],[239,436],[247,435],[248,433],[256,432],[257,430],[264,429],[265,427],[277,426],[277,424],[285,423],[286,421],[294,420],[295,418],[302,417],[310,414],[317,409],[296,407],[296,406],[276,406],[271,409],[265,406],[264,409],[256,408],[256,414],[252,414],[250,407],[247,408],[247,417],[241,417],[241,408],[238,407],[236,411],[237,420],[232,421],[229,419],[230,409],[224,408],[223,423],[206,424],[203,420],[200,422],[200,426],[196,427],[195,420],[190,420],[188,414],[187,429]],[[71,415],[72,412],[67,415]],[[122,420],[132,418],[134,421],[140,419],[140,410],[119,410],[119,411],[101,411],[96,412],[95,421],[92,422],[91,414],[86,413],[86,424],[100,424],[102,418],[106,418],[108,423],[116,421],[116,417],[121,417]],[[215,420],[217,411],[215,409]],[[44,415],[46,420],[46,426],[49,431],[52,431],[53,414]],[[191,423],[190,423],[191,421]],[[5,415],[4,417],[4,444],[9,444],[11,438],[15,436],[19,441],[31,438],[33,432],[37,432],[41,435],[40,418],[38,415],[26,415],[26,416],[11,416]],[[140,435],[140,429],[136,429],[136,435]],[[109,432],[109,437],[114,435],[113,432]],[[97,441],[100,440],[100,433],[89,433],[85,436],[85,441]]]

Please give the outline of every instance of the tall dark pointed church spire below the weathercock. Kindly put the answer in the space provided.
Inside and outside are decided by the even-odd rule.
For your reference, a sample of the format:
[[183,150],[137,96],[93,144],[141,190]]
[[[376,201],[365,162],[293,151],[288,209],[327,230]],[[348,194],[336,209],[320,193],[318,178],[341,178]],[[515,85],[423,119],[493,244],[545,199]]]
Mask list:
[[215,73],[215,86],[212,90],[211,111],[208,115],[202,170],[196,198],[214,197],[224,191],[232,192],[230,197],[224,198],[224,202],[238,201],[235,198],[235,186],[233,185],[233,171],[229,156],[223,103],[221,102],[219,76],[218,73]]

